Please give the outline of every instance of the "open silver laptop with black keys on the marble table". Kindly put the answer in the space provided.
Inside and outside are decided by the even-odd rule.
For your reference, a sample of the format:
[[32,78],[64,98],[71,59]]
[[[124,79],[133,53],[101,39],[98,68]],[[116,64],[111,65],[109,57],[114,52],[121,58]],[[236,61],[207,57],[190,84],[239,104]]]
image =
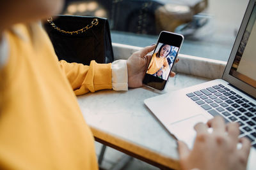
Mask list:
[[[191,148],[198,122],[221,115],[239,122],[241,134],[252,141],[256,160],[256,0],[250,0],[221,79],[145,99],[161,124]],[[253,161],[251,161],[253,162]],[[255,163],[254,163],[255,164]],[[256,168],[256,166],[254,166]]]

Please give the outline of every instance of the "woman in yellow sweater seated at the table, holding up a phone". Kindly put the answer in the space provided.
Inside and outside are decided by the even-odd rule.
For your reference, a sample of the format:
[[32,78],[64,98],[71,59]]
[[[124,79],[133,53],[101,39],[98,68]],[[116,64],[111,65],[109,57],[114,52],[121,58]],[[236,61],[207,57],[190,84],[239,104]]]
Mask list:
[[[34,22],[62,6],[62,0],[1,1],[0,169],[98,169],[92,132],[75,94],[142,85],[147,53],[155,46],[113,64],[58,62],[47,34]],[[241,152],[247,148],[243,145]],[[180,143],[182,166],[204,167],[206,161],[193,157],[202,151],[189,152]]]

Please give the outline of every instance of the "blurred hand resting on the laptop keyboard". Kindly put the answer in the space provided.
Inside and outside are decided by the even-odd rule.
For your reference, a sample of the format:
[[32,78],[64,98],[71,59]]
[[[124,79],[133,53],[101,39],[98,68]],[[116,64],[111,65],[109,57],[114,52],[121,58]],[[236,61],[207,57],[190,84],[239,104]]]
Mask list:
[[[212,127],[212,132],[207,131]],[[192,150],[179,141],[182,169],[246,169],[250,153],[250,141],[239,139],[239,125],[225,125],[223,118],[215,117],[206,124],[196,124],[196,139]],[[241,143],[241,148],[237,148]]]

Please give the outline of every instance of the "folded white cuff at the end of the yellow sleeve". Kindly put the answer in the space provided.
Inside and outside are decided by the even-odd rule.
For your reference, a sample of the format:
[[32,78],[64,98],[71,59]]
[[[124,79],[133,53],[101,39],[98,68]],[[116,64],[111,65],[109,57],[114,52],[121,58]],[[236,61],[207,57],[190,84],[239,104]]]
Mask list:
[[113,90],[128,90],[128,73],[126,60],[115,60],[111,65]]

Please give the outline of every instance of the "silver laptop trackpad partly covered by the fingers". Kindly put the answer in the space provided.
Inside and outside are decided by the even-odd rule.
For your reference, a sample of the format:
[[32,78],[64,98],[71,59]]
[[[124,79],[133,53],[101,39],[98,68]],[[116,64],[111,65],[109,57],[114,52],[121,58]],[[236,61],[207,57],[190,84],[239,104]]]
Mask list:
[[189,148],[192,148],[196,136],[194,126],[198,122],[206,123],[207,120],[209,120],[209,118],[204,117],[202,114],[195,115],[194,117],[172,123],[168,129],[177,139],[184,141]]

